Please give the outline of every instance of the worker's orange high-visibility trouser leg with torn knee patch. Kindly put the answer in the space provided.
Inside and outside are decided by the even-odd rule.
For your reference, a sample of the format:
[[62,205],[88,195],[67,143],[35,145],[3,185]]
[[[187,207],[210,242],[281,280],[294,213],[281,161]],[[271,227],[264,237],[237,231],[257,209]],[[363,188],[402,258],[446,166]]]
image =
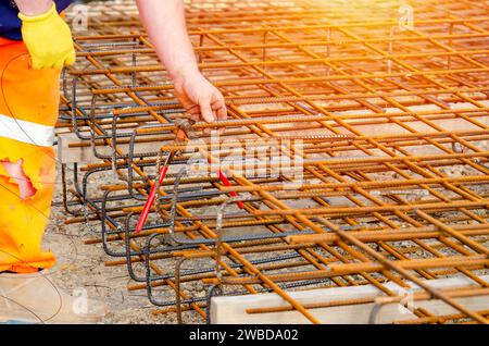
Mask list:
[[[33,71],[29,64],[23,42],[0,38],[0,115],[54,126],[60,71]],[[41,251],[55,181],[54,150],[8,137],[0,136],[0,272],[35,272],[55,261]],[[10,163],[22,164],[22,176],[12,176],[5,169]],[[18,180],[29,183],[28,197],[21,197]]]

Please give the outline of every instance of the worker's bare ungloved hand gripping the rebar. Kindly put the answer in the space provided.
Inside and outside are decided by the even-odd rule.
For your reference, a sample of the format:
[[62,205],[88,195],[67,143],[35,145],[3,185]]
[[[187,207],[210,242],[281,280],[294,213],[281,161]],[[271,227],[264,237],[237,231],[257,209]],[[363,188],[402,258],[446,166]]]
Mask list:
[[192,120],[212,123],[227,118],[223,95],[199,71],[183,73],[174,83],[175,96]]

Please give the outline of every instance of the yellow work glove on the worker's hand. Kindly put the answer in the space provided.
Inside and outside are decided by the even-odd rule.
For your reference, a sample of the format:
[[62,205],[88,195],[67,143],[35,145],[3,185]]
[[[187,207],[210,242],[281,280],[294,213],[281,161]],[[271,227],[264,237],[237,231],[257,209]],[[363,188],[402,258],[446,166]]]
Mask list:
[[32,67],[62,69],[76,60],[72,33],[53,3],[48,12],[28,16],[18,13],[22,36],[30,53]]

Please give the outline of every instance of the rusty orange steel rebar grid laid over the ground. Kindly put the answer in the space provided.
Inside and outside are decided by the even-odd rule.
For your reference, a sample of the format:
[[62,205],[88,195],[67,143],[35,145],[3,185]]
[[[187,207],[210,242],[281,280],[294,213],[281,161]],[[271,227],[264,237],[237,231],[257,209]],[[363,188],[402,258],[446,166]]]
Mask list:
[[[108,265],[127,265],[129,289],[146,289],[162,307],[154,314],[176,312],[179,322],[185,311],[206,318],[215,294],[274,292],[286,310],[330,323],[314,310],[375,301],[306,306],[289,292],[372,284],[398,302],[393,282],[422,289],[405,306],[417,319],[397,322],[487,323],[487,310],[457,298],[488,294],[489,5],[413,7],[414,27],[403,29],[397,1],[191,1],[200,67],[229,119],[197,123],[199,140],[184,147],[173,140],[185,110],[135,5],[93,4],[90,35],[78,33],[78,63],[64,76],[59,128],[99,160],[74,164],[71,182],[63,165],[67,222],[87,222],[98,233],[87,243],[116,257]],[[200,133],[215,126],[225,128],[218,140]],[[271,147],[280,160],[261,157]],[[155,174],[177,150],[136,234]],[[190,166],[196,153],[212,164]],[[226,166],[236,157],[259,174]],[[300,170],[280,171],[284,160]],[[426,284],[452,276],[473,284]],[[416,306],[427,299],[454,313]]]

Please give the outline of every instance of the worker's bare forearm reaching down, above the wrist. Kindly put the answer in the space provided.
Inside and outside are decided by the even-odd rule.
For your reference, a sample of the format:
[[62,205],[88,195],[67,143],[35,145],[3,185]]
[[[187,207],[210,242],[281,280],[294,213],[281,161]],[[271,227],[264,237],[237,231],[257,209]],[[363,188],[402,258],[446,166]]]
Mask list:
[[139,13],[172,79],[198,72],[183,0],[137,0]]

